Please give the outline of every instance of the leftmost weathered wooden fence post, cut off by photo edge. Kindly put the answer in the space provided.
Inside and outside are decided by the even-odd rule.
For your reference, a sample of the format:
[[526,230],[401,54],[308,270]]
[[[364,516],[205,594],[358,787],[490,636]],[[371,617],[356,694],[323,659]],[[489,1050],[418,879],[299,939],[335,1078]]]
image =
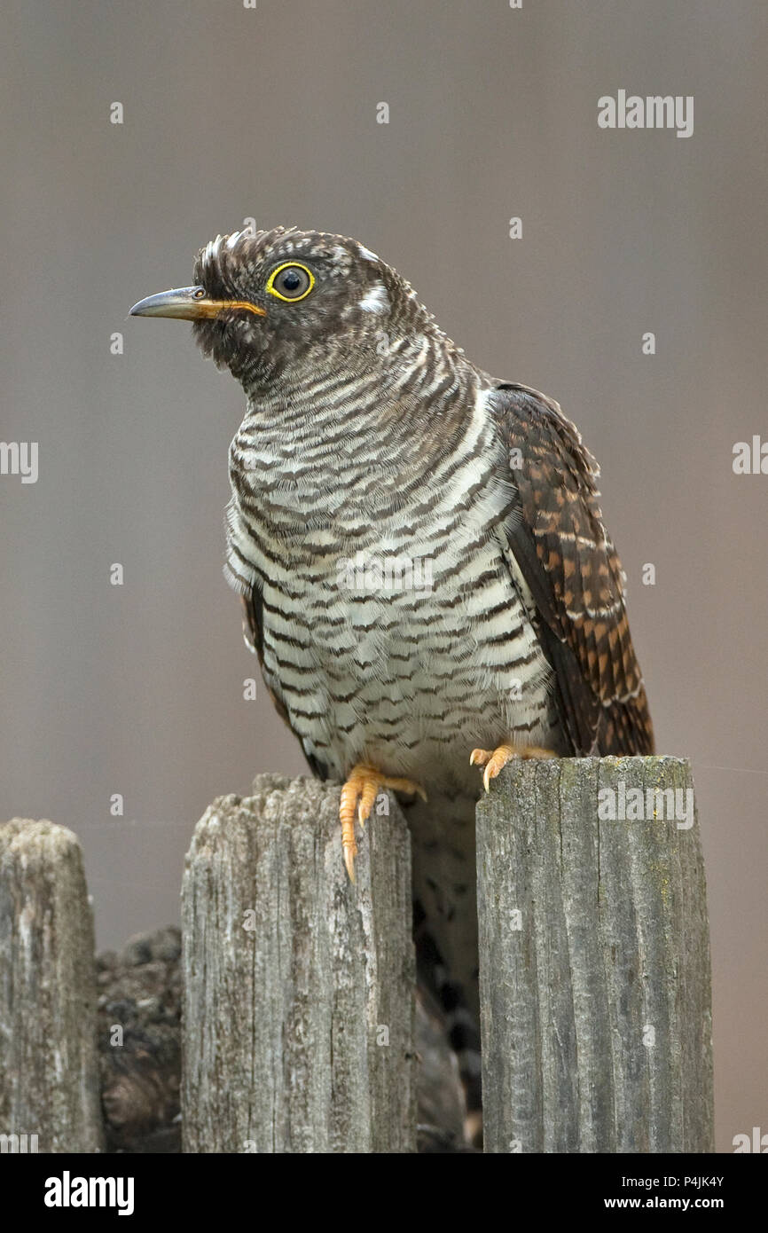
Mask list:
[[80,845],[64,826],[18,817],[0,825],[0,1136],[10,1152],[102,1145]]

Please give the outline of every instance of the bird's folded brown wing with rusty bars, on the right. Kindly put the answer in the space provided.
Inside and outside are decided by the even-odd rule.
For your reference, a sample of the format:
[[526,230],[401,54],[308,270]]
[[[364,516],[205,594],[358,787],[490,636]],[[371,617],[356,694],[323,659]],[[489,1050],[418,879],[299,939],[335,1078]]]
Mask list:
[[536,605],[573,752],[652,753],[626,580],[603,525],[598,465],[556,402],[508,382],[498,382],[498,398],[517,485],[507,535]]

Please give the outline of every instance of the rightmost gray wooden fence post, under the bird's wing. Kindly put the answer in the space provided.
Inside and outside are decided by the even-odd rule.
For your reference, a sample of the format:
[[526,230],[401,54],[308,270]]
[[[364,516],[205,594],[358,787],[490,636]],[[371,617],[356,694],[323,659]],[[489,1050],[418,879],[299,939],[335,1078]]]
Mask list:
[[486,1152],[714,1152],[689,763],[512,764],[477,880]]

